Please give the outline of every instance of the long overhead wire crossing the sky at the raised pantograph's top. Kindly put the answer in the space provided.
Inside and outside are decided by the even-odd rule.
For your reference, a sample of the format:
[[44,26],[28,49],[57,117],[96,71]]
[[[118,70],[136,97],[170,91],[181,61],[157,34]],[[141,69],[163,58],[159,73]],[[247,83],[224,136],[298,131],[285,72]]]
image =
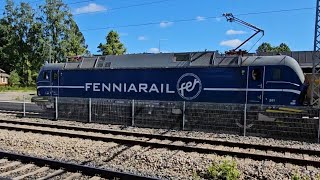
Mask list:
[[[295,9],[282,9],[282,10],[261,11],[261,12],[250,12],[250,13],[243,13],[243,14],[235,14],[235,16],[272,14],[272,13],[293,12],[293,11],[313,10],[313,9],[315,9],[315,7],[295,8]],[[217,19],[217,18],[223,18],[223,16],[221,15],[221,16],[204,17],[205,20]],[[148,22],[148,23],[140,23],[140,24],[129,24],[129,25],[119,25],[119,26],[108,26],[108,27],[100,27],[100,28],[91,28],[91,29],[84,29],[84,30],[81,30],[81,31],[83,31],[83,32],[85,32],[85,31],[98,31],[98,30],[105,30],[105,29],[158,25],[160,23],[181,23],[181,22],[192,22],[192,21],[199,21],[199,20],[197,18],[178,19],[178,20],[172,20],[172,21],[160,21],[160,22],[158,21],[158,22]]]

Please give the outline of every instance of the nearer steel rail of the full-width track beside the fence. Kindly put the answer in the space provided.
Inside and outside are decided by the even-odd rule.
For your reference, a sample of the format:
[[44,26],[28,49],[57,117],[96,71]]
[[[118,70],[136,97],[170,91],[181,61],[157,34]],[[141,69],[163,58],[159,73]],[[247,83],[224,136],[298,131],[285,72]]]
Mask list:
[[170,150],[182,150],[185,152],[198,152],[198,153],[206,153],[206,154],[214,153],[217,155],[229,155],[229,156],[235,156],[238,158],[250,158],[258,161],[271,160],[276,163],[291,163],[291,164],[300,165],[300,166],[314,166],[318,168],[320,167],[320,161],[299,159],[299,158],[288,158],[288,157],[282,157],[282,156],[254,154],[249,152],[237,152],[237,151],[209,149],[209,148],[195,147],[195,146],[156,143],[156,142],[150,142],[150,141],[130,140],[130,139],[124,139],[124,138],[105,137],[105,136],[98,136],[98,135],[83,135],[83,134],[77,134],[77,133],[71,133],[71,132],[57,132],[57,131],[40,130],[40,129],[33,129],[33,128],[22,128],[22,127],[8,126],[3,124],[2,125],[0,124],[0,128],[14,130],[14,131],[50,134],[54,136],[65,136],[65,137],[89,139],[89,140],[104,141],[104,142],[115,142],[119,144],[131,145],[131,146],[139,145],[142,147],[167,148]]

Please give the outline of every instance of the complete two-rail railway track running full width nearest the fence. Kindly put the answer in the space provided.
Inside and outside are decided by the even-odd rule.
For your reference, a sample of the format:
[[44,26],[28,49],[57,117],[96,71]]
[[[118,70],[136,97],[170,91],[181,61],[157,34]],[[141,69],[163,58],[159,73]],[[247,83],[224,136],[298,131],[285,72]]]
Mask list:
[[301,166],[320,167],[320,151],[275,147],[209,139],[166,136],[128,131],[92,129],[76,126],[0,120],[0,128],[73,138],[115,142],[143,147],[167,148],[185,152],[214,153],[253,160],[271,160]]

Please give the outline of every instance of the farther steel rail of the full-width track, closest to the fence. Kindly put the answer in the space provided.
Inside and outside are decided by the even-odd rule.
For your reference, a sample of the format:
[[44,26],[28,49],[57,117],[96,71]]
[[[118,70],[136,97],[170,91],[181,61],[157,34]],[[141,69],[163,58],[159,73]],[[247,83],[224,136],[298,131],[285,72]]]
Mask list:
[[85,127],[77,127],[77,126],[69,126],[69,125],[55,125],[55,124],[1,120],[1,119],[0,119],[0,123],[10,123],[10,124],[19,124],[19,125],[28,125],[28,126],[37,126],[37,127],[48,127],[48,128],[93,132],[93,133],[101,133],[101,134],[144,137],[144,138],[159,139],[159,140],[182,141],[185,143],[194,142],[196,144],[221,145],[221,146],[228,146],[228,147],[239,147],[242,149],[256,149],[256,150],[262,150],[262,151],[269,150],[269,151],[280,152],[280,153],[288,152],[288,153],[295,153],[295,154],[307,154],[307,155],[312,155],[312,156],[320,156],[320,151],[316,151],[316,150],[288,148],[288,147],[280,147],[280,146],[266,146],[266,145],[259,145],[259,144],[230,142],[230,141],[213,140],[213,139],[200,139],[200,138],[190,138],[190,137],[180,137],[180,136],[168,136],[168,135],[159,135],[159,134],[119,131],[119,130],[111,130],[111,129],[96,129],[96,128],[85,128]]

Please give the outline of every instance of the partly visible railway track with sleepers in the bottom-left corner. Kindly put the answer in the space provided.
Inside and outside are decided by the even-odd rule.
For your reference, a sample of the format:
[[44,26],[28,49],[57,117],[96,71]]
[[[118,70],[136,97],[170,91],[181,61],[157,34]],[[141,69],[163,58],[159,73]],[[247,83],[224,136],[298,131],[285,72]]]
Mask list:
[[0,179],[152,179],[90,166],[0,151]]

